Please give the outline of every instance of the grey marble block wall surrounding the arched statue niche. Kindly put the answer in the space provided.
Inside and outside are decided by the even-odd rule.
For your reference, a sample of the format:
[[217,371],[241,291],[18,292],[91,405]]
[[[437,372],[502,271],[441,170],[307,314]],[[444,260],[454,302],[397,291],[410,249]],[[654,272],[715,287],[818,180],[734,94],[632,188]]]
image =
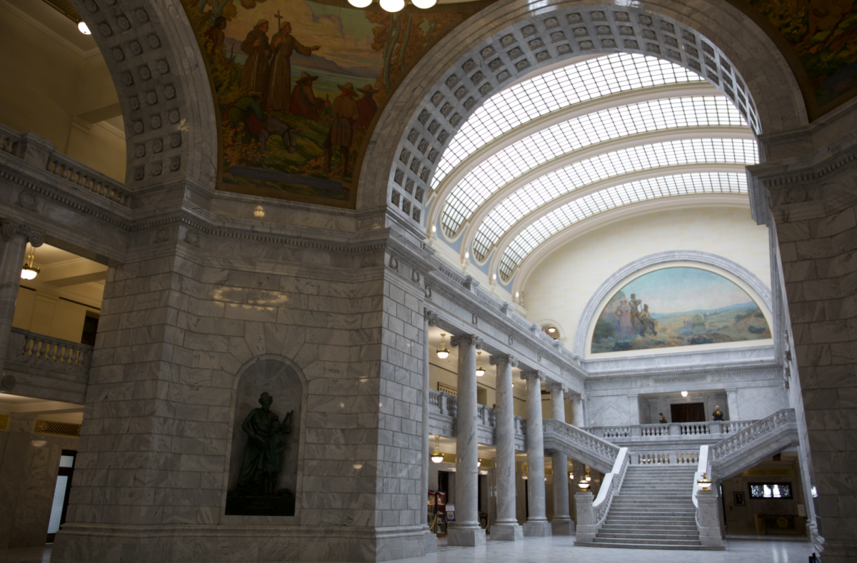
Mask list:
[[[144,237],[141,258],[108,272],[73,524],[54,556],[422,554],[423,289],[412,272],[391,267],[382,246],[305,249],[174,229],[165,244]],[[241,432],[237,376],[260,358],[306,382],[295,517],[224,514]]]

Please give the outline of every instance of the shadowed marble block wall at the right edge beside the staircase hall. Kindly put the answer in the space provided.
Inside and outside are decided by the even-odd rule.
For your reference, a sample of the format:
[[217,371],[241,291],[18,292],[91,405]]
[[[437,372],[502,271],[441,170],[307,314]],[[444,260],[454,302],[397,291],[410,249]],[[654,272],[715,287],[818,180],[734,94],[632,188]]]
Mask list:
[[[831,152],[834,154],[831,157]],[[825,563],[857,557],[854,143],[764,179],[779,240]]]

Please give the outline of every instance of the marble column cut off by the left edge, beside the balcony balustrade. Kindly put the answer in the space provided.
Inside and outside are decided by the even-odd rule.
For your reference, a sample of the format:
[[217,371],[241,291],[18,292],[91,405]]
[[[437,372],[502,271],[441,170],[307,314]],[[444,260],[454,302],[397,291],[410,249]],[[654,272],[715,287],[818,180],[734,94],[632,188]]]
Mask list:
[[[21,285],[21,268],[27,258],[27,242],[33,247],[42,246],[45,237],[33,231],[27,225],[2,221],[0,232],[3,234],[3,255],[0,256],[0,374],[6,363],[6,351],[9,348],[9,332],[12,330],[12,318],[15,317],[15,301],[18,299],[18,287]],[[10,390],[15,382],[3,381],[3,388]]]

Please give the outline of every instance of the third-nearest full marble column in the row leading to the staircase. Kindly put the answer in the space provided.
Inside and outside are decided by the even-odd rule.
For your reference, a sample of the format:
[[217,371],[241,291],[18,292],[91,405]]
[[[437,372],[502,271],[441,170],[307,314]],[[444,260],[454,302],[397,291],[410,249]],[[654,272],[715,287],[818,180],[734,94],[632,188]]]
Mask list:
[[527,382],[527,480],[530,482],[530,518],[524,523],[524,536],[550,536],[545,516],[544,430],[542,429],[541,371],[524,371]]

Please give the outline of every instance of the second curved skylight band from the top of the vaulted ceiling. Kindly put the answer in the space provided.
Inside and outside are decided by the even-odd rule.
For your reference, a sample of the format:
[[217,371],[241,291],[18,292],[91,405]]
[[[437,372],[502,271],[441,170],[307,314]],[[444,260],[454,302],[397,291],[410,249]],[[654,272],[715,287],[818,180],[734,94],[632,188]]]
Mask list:
[[[584,146],[636,133],[702,126],[746,127],[746,121],[723,96],[663,98],[576,117],[542,129],[495,153],[465,175],[446,202],[472,212],[513,178]],[[454,235],[461,223],[447,217],[446,209],[444,213],[441,223],[446,234]]]

